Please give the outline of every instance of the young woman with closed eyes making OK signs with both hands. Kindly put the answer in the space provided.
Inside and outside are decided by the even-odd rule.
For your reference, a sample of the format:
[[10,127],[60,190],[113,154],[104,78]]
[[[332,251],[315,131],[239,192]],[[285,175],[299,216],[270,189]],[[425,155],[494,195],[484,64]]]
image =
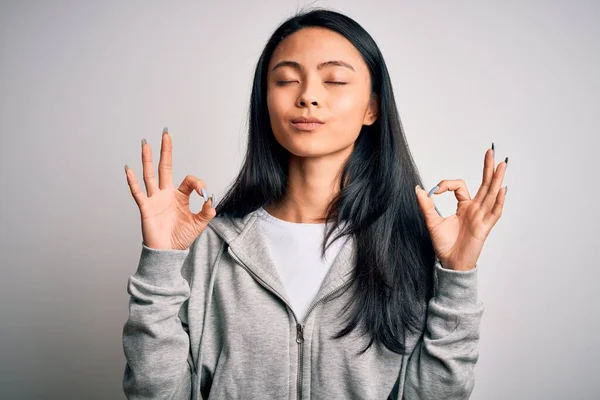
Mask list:
[[[215,206],[205,184],[125,167],[143,243],[123,329],[129,399],[466,399],[483,305],[477,260],[502,213],[493,144],[471,198],[429,193],[374,40],[316,9],[258,60],[242,169]],[[205,203],[189,210],[193,191]],[[442,217],[432,194],[453,191]]]

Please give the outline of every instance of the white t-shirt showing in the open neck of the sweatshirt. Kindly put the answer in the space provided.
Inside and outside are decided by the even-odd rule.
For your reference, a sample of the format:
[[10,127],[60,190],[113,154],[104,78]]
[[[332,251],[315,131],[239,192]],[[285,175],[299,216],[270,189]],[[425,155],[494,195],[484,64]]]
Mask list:
[[279,272],[292,309],[303,320],[344,239],[336,240],[321,257],[325,223],[284,221],[262,207],[257,212],[267,247]]

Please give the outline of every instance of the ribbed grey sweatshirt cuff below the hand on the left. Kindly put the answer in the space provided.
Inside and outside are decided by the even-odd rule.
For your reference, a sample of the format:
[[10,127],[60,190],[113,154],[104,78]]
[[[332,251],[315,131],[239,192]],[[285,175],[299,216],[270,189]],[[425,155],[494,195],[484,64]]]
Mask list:
[[135,277],[153,286],[174,286],[184,279],[181,268],[190,249],[154,249],[142,243],[142,252]]

